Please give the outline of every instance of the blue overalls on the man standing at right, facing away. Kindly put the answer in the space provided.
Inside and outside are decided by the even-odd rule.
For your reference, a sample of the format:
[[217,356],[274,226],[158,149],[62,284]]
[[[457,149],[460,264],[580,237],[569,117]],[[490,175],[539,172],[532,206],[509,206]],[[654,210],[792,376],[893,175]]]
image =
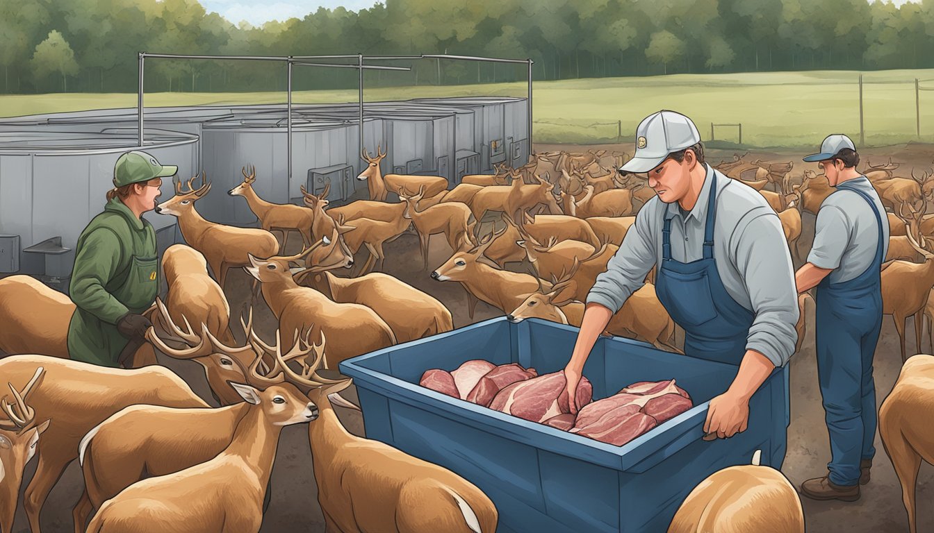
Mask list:
[[[817,286],[814,342],[817,377],[830,436],[829,479],[833,484],[859,483],[859,461],[875,455],[875,384],[872,358],[882,329],[882,274],[884,260],[883,218],[868,194],[850,187],[870,204],[879,223],[875,259],[856,278],[830,283],[829,276]],[[886,222],[888,219],[886,218]]]

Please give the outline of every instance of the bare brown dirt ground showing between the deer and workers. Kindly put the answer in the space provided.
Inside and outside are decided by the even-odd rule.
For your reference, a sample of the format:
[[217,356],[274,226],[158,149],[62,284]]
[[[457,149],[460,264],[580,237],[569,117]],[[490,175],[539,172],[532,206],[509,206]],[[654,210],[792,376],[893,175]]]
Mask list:
[[[612,149],[622,149],[632,153],[632,145],[606,145]],[[601,147],[583,147],[600,149]],[[552,149],[579,150],[582,147],[536,146],[536,151]],[[816,147],[815,147],[816,148]],[[728,160],[732,150],[708,150],[708,160],[718,162]],[[792,176],[800,181],[800,175],[807,163],[800,161],[806,154],[751,152],[750,157],[761,157],[763,161],[796,161]],[[934,147],[930,145],[909,145],[908,147],[889,147],[867,149],[861,153],[870,161],[901,161],[898,174],[909,175],[912,165],[916,165],[916,174],[927,171],[934,159]],[[813,163],[812,163],[813,164]],[[861,165],[860,165],[861,166]],[[804,230],[800,238],[800,254],[806,256],[814,236],[814,216],[805,214]],[[292,242],[297,239],[292,239]],[[460,284],[438,282],[429,276],[432,269],[450,257],[450,248],[443,238],[432,238],[429,271],[423,271],[418,256],[417,237],[406,234],[386,246],[387,259],[384,272],[393,274],[413,287],[424,290],[441,302],[444,302],[454,317],[457,328],[471,323],[501,315],[500,312],[484,302],[477,305],[474,319],[467,316],[466,295]],[[364,254],[358,256],[363,259]],[[796,267],[801,262],[796,261]],[[513,264],[514,270],[528,272],[527,265]],[[235,313],[248,302],[248,274],[233,272],[226,287],[231,308]],[[264,339],[272,341],[276,323],[269,309],[262,301],[254,310],[254,321]],[[817,386],[817,372],[814,360],[814,316],[809,311],[808,331],[801,350],[790,362],[791,365],[791,427],[788,430],[788,452],[785,457],[783,472],[795,486],[805,479],[824,475],[829,460],[828,435],[824,424],[824,411],[821,406],[820,391]],[[909,356],[919,351],[934,351],[929,347],[927,335],[922,341],[924,350],[917,349],[914,341],[913,318],[908,319],[907,348]],[[331,341],[334,342],[334,341]],[[181,375],[205,400],[212,402],[206,385],[204,372],[196,363],[161,357],[161,362]],[[570,354],[569,354],[570,357]],[[899,356],[899,337],[890,318],[884,320],[882,336],[875,358],[875,383],[877,402],[882,403],[892,389],[899,375],[901,359]],[[347,389],[346,396],[356,400],[354,388]],[[361,415],[343,408],[337,408],[341,420],[348,430],[362,435]],[[324,523],[318,506],[318,488],[312,472],[312,457],[308,447],[308,428],[304,426],[285,428],[282,432],[276,453],[276,466],[272,478],[272,502],[265,515],[262,532],[324,531]],[[809,532],[853,531],[853,532],[903,532],[908,530],[907,518],[901,502],[901,489],[892,464],[885,455],[883,444],[876,435],[876,458],[872,468],[870,484],[862,487],[862,498],[854,503],[815,502],[802,498]],[[35,470],[35,460],[27,469],[25,480],[29,480]],[[74,462],[65,471],[55,486],[42,512],[43,530],[47,533],[72,531],[71,509],[81,493],[82,479],[78,462]],[[25,484],[24,484],[25,486]],[[22,496],[21,496],[22,499]],[[934,467],[922,464],[917,484],[918,530],[934,531],[934,510],[929,502],[934,500]],[[13,527],[15,533],[29,531],[25,514],[20,503]]]

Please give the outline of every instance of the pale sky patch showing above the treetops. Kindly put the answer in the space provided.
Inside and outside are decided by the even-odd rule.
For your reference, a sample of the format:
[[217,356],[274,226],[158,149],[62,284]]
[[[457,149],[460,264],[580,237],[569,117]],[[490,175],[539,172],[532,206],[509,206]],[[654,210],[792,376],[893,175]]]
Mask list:
[[[444,0],[442,0],[444,1]],[[906,2],[920,2],[920,0],[889,0],[896,6]],[[234,24],[248,21],[254,26],[262,25],[267,21],[286,21],[291,17],[303,18],[308,13],[318,10],[318,7],[347,7],[351,11],[359,11],[373,7],[375,0],[200,0],[207,12],[216,11]]]

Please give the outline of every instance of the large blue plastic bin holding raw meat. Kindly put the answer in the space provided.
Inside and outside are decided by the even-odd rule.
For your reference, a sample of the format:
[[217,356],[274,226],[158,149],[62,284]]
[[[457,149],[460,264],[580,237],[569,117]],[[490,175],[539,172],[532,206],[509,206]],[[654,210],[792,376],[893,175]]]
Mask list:
[[776,369],[749,403],[749,426],[727,440],[701,440],[709,401],[736,375],[733,365],[601,337],[584,375],[594,400],[637,381],[674,378],[695,407],[624,446],[597,442],[418,386],[429,369],[453,371],[482,358],[517,362],[541,375],[564,368],[577,328],[504,316],[347,359],[368,438],[457,472],[500,513],[500,532],[664,532],[705,477],[749,464],[781,469],[789,422],[788,371]]

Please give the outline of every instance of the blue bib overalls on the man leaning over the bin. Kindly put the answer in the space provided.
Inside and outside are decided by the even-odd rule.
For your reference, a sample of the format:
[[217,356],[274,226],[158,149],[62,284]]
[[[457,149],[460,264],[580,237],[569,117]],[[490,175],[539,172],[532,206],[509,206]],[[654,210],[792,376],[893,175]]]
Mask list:
[[672,218],[662,227],[662,259],[656,276],[658,300],[685,330],[685,355],[739,365],[755,315],[737,303],[723,286],[714,259],[716,173],[711,173],[703,259],[688,263],[672,259]]

